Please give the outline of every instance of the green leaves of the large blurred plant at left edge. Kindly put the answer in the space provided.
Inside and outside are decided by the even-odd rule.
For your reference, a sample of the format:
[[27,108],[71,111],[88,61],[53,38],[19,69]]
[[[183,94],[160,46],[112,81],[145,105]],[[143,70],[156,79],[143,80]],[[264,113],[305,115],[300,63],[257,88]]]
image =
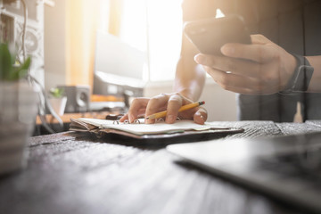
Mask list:
[[7,44],[0,44],[0,80],[15,81],[26,77],[30,63],[30,57],[25,62],[17,62],[16,53],[11,53]]

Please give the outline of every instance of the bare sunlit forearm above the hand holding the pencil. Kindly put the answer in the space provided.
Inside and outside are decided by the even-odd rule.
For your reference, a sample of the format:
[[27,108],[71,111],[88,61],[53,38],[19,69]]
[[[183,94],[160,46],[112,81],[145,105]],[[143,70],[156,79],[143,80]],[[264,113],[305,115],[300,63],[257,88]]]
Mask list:
[[197,101],[202,95],[205,83],[205,71],[193,60],[180,58],[174,82],[174,91],[185,97]]

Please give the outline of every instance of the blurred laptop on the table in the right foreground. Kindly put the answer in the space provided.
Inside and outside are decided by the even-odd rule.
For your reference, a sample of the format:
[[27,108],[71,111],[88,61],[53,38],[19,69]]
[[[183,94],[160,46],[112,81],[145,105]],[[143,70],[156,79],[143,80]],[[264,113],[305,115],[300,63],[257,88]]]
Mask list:
[[321,132],[171,144],[167,150],[215,175],[321,213]]

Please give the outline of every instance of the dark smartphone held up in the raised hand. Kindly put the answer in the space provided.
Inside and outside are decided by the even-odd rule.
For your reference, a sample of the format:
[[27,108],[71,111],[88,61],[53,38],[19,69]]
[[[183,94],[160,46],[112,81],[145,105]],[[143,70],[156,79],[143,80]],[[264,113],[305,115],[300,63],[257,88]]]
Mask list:
[[205,54],[222,55],[220,48],[226,43],[251,44],[250,32],[239,15],[189,21],[185,23],[184,32]]

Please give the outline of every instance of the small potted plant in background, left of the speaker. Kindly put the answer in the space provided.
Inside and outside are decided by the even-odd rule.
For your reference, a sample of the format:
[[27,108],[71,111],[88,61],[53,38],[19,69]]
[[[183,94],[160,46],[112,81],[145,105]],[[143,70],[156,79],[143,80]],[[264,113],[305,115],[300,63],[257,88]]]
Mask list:
[[64,96],[63,88],[53,87],[50,89],[49,94],[53,111],[59,115],[63,115],[67,103],[67,96]]

